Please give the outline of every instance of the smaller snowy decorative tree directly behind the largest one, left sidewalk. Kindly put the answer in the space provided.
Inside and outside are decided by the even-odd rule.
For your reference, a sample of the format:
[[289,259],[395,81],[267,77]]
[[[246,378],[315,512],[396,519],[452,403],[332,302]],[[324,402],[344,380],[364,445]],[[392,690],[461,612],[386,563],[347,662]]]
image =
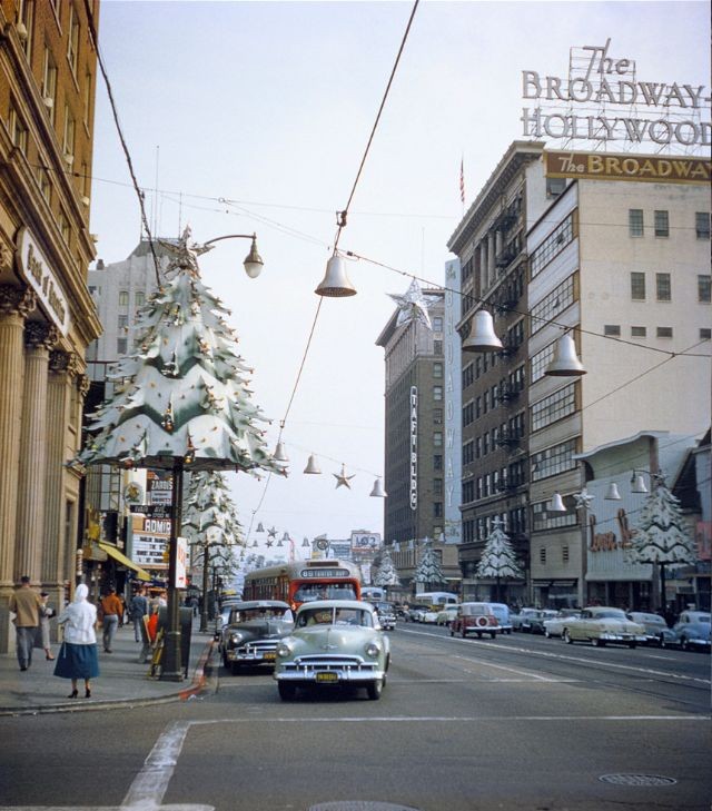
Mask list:
[[235,573],[235,547],[243,545],[235,503],[229,496],[225,474],[199,471],[190,476],[184,510],[184,532],[190,540],[192,560],[201,555],[202,606],[200,631],[208,630],[208,573],[211,564],[225,561]]

